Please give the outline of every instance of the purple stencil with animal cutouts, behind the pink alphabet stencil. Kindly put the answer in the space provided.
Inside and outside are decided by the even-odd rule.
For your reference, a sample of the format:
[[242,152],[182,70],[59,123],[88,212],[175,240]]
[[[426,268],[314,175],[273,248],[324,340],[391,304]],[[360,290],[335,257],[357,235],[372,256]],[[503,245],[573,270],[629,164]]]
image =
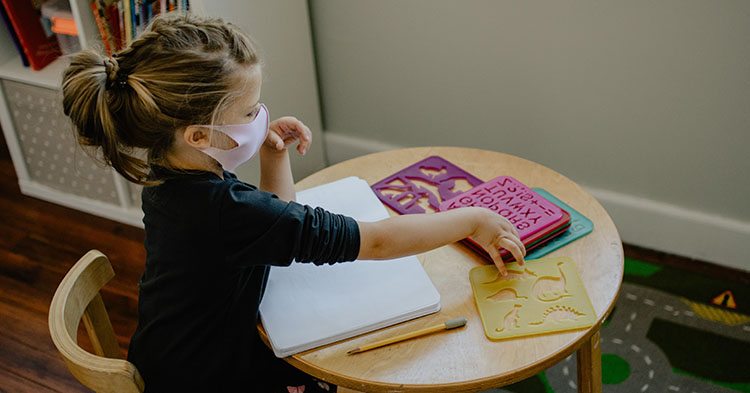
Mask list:
[[440,156],[430,156],[371,186],[375,195],[399,214],[438,211],[440,202],[471,189],[482,180]]

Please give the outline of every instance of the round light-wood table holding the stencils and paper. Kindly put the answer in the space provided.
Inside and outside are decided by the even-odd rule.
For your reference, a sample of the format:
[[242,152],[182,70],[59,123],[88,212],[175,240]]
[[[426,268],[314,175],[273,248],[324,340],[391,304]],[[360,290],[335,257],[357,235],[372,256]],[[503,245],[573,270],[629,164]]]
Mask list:
[[[614,223],[602,206],[565,176],[534,162],[487,150],[423,147],[370,154],[325,168],[297,183],[303,190],[347,176],[368,184],[426,157],[438,155],[483,181],[512,176],[542,187],[594,223],[594,230],[547,256],[571,257],[588,292],[597,323],[586,330],[491,341],[475,306],[469,271],[488,262],[457,243],[419,255],[440,293],[435,314],[286,358],[302,371],[340,386],[340,391],[472,392],[531,377],[577,351],[578,390],[601,391],[599,330],[612,311],[623,277],[623,250]],[[392,215],[397,213],[388,209]],[[408,340],[357,355],[359,345],[466,317],[465,327]],[[260,325],[259,325],[260,326]],[[264,340],[265,332],[260,326]]]

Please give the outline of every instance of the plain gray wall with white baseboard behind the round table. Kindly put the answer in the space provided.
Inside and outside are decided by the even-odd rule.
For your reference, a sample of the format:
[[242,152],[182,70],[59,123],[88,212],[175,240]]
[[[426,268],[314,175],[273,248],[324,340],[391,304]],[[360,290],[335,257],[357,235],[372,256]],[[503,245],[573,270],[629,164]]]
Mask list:
[[750,270],[750,2],[310,10],[329,161],[388,146],[514,154],[591,190],[625,241]]

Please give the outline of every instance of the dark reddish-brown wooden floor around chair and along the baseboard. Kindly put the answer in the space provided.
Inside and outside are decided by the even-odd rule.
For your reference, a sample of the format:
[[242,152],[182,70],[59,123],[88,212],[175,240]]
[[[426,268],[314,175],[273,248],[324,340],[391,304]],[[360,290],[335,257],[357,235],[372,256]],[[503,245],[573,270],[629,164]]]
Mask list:
[[[125,355],[137,320],[144,232],[22,195],[5,140],[0,140],[0,392],[89,391],[71,376],[52,344],[49,303],[78,258],[92,248],[104,252],[115,278],[102,297]],[[632,246],[625,247],[625,254],[750,282],[746,273],[705,262]],[[85,334],[79,337],[86,346]]]

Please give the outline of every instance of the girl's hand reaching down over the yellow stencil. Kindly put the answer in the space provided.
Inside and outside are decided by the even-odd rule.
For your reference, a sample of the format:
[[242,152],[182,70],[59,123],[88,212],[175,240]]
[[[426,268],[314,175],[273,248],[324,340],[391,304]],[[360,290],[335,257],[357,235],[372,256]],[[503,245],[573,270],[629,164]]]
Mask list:
[[516,228],[505,217],[489,209],[479,209],[481,209],[481,219],[477,229],[469,237],[490,253],[497,270],[505,276],[508,271],[500,256],[500,249],[508,250],[516,258],[518,264],[523,265],[526,247],[521,242]]

